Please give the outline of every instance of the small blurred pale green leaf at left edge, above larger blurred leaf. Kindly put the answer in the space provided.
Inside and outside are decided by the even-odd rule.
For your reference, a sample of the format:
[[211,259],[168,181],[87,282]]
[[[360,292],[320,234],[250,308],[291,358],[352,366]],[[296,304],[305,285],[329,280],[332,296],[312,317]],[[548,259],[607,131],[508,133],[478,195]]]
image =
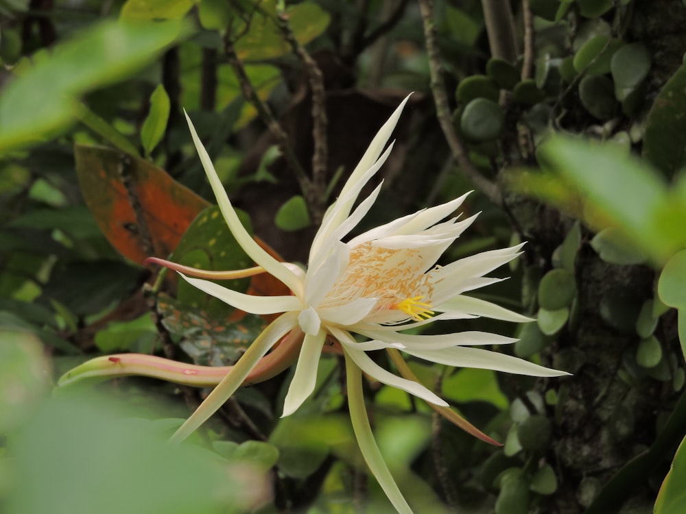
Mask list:
[[19,427],[49,389],[43,346],[31,332],[0,328],[0,432]]

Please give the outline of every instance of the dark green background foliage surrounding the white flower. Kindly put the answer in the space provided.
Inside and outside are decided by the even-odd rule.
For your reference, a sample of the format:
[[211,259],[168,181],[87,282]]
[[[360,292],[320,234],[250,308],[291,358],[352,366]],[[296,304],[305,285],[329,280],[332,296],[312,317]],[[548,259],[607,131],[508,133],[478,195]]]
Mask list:
[[[368,384],[410,503],[686,510],[686,3],[430,7],[0,1],[3,512],[390,509],[360,465],[335,356],[296,415],[279,418],[282,374],[241,389],[182,448],[164,441],[206,391],[143,378],[51,387],[113,352],[227,365],[264,326],[142,266],[169,254],[250,264],[205,199],[182,108],[246,223],[304,262],[338,178],[411,90],[364,223],[476,189],[466,215],[482,214],[449,257],[528,241],[488,295],[538,321],[500,350],[573,377],[412,363],[502,448]],[[278,291],[269,280],[235,287]],[[473,328],[514,330],[456,330]]]

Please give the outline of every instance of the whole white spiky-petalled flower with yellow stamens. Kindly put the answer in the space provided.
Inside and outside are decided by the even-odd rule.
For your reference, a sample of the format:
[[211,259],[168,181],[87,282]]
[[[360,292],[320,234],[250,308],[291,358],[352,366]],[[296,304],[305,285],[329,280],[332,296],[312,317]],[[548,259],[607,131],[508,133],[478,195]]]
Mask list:
[[[491,352],[475,345],[503,345],[515,339],[488,332],[459,332],[440,335],[409,335],[408,328],[445,319],[479,316],[514,322],[531,321],[517,313],[464,295],[499,279],[486,274],[520,254],[521,245],[483,252],[451,262],[436,263],[443,252],[473,223],[475,216],[460,220],[453,217],[466,195],[436,207],[415,212],[381,225],[346,241],[374,203],[381,184],[355,207],[362,188],[381,168],[392,149],[386,146],[407,99],[381,127],[362,160],[348,178],[340,196],[327,210],[309,252],[307,271],[277,261],[265,252],[241,225],[233,206],[217,177],[193,125],[188,119],[193,142],[217,197],[226,223],[246,253],[255,260],[257,271],[278,278],[292,291],[292,296],[256,297],[239,293],[215,282],[182,274],[193,286],[223,302],[248,313],[283,313],[250,345],[234,369],[213,390],[196,413],[179,429],[174,439],[184,439],[209,418],[245,380],[250,370],[270,348],[286,334],[304,333],[294,378],[288,389],[283,415],[296,411],[315,387],[317,367],[327,338],[340,343],[348,367],[348,387],[357,387],[359,370],[388,384],[420,397],[439,407],[447,403],[411,378],[403,378],[377,365],[366,352],[401,350],[406,354],[459,367],[478,367],[530,376],[560,376],[563,372],[548,369],[506,354]],[[353,208],[355,207],[355,208]],[[226,278],[255,273],[226,273]],[[198,271],[196,275],[202,276]],[[362,336],[356,338],[354,334]],[[358,342],[358,339],[365,339]],[[355,389],[357,391],[357,389]],[[380,454],[370,430],[362,390],[351,395],[353,428],[370,469],[399,511],[409,511],[388,469],[379,463]],[[383,469],[382,469],[383,468]],[[389,482],[390,480],[390,482]],[[392,483],[391,483],[392,482]]]

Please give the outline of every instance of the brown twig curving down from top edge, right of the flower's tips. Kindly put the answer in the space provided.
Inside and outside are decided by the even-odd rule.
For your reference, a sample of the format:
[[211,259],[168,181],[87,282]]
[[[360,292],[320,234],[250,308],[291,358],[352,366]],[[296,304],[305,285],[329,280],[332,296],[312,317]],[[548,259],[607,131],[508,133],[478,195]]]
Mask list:
[[464,171],[467,178],[474,184],[474,186],[481,191],[490,201],[500,206],[503,199],[500,190],[494,182],[491,182],[484,177],[480,171],[475,167],[473,162],[469,160],[466,154],[464,145],[453,127],[451,119],[448,99],[445,93],[445,85],[443,84],[443,77],[440,73],[440,54],[438,53],[438,44],[436,42],[436,27],[434,26],[434,9],[432,0],[419,0],[419,8],[422,13],[422,21],[424,26],[424,36],[426,38],[427,54],[429,56],[429,73],[431,73],[431,93],[434,96],[436,103],[436,117],[438,123],[445,135],[445,139],[450,147],[453,159],[458,166]]

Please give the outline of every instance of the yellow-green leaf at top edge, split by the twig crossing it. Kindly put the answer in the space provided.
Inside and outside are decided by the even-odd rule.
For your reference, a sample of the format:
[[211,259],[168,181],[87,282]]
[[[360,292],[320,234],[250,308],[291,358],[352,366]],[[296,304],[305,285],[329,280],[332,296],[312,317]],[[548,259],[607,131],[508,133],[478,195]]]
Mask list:
[[[286,9],[288,24],[301,45],[310,42],[329,26],[329,13],[311,1],[289,5]],[[283,56],[292,51],[276,25],[276,0],[262,1],[249,23],[248,32],[235,43],[241,60],[262,60]],[[235,34],[241,34],[244,27],[237,27]]]

